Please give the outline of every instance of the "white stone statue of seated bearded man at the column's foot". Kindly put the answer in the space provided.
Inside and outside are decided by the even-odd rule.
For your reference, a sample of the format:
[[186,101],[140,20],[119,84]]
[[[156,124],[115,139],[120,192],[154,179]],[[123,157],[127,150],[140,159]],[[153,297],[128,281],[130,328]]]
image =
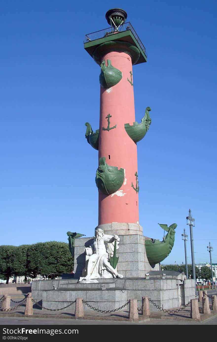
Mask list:
[[109,257],[113,255],[115,240],[117,241],[117,250],[120,241],[118,235],[105,235],[102,229],[96,229],[96,236],[91,246],[85,248],[87,255],[86,267],[83,274],[84,277],[81,277],[79,281],[112,278],[113,276],[123,278],[109,263]]

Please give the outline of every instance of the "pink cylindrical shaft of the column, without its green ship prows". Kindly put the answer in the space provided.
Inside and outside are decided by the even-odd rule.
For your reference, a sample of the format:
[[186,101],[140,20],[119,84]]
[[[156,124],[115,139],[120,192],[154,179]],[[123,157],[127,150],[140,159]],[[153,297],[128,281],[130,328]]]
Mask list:
[[[100,122],[99,122],[99,158],[105,157],[110,166],[125,170],[125,179],[121,188],[114,194],[104,195],[99,191],[99,222],[138,223],[138,194],[131,186],[136,187],[137,146],[124,129],[124,123],[135,121],[133,86],[131,80],[131,57],[124,52],[109,52],[102,60],[111,60],[111,65],[122,72],[121,81],[115,86],[105,89],[100,87]],[[106,116],[110,114],[110,131],[107,128]],[[110,159],[109,159],[110,158]]]

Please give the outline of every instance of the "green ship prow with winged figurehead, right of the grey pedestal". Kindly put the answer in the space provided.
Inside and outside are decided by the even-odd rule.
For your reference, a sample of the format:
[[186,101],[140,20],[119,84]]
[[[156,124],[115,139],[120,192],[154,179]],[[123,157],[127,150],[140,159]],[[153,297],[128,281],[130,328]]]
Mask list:
[[158,264],[168,257],[174,245],[177,224],[173,223],[169,227],[167,224],[159,224],[159,226],[168,232],[163,240],[145,240],[146,255],[151,266]]

